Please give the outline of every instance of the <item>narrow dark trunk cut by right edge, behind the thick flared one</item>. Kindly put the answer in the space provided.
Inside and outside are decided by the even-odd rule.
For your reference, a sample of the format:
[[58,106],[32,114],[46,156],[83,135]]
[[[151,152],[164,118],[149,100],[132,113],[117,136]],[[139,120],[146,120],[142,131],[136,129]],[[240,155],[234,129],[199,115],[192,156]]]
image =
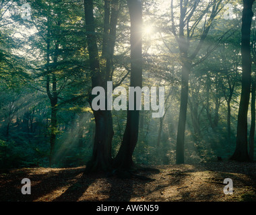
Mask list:
[[255,77],[251,83],[251,128],[249,134],[249,157],[253,161],[254,154],[254,135],[255,135]]

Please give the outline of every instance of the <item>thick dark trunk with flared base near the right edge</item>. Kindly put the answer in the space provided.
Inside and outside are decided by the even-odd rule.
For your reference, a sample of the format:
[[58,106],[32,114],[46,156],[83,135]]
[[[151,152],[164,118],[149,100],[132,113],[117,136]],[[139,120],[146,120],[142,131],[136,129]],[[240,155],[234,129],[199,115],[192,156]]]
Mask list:
[[242,92],[238,110],[238,122],[236,132],[236,149],[230,159],[234,161],[250,161],[247,150],[247,113],[249,107],[250,88],[251,88],[251,22],[253,17],[254,0],[244,0],[242,17]]

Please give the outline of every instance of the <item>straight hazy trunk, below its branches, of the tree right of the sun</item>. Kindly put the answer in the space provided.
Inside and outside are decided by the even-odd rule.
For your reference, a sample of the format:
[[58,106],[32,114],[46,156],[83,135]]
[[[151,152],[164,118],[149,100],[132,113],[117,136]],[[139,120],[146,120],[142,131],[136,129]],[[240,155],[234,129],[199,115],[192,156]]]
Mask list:
[[187,118],[187,103],[189,99],[189,73],[191,71],[191,64],[189,62],[183,63],[182,77],[181,77],[181,105],[179,112],[179,124],[177,132],[177,150],[176,163],[184,163],[184,141],[185,141],[185,125]]

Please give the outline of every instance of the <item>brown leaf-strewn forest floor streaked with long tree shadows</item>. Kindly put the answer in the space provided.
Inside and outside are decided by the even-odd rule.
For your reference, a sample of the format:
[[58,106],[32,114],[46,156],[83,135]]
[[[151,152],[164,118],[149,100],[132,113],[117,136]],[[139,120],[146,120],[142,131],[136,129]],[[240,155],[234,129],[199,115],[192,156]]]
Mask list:
[[[154,166],[141,177],[86,175],[85,167],[23,168],[0,173],[0,201],[56,202],[238,202],[256,201],[256,163],[220,161],[197,165]],[[147,177],[147,178],[146,178]],[[22,179],[31,181],[23,195]],[[233,194],[224,194],[224,179],[233,181]]]

